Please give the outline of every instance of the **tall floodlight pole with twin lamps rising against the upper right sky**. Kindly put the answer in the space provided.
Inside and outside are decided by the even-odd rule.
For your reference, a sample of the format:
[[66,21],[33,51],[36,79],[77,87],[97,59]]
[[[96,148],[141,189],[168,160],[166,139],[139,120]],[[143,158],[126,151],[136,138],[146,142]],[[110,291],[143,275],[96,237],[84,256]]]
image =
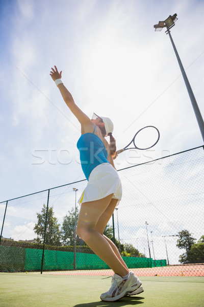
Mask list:
[[[200,110],[199,110],[199,107],[197,105],[197,101],[195,99],[195,96],[193,94],[193,91],[191,89],[191,85],[189,83],[189,80],[187,78],[187,75],[186,75],[186,72],[184,70],[184,67],[183,67],[183,64],[182,64],[182,61],[180,59],[180,56],[179,56],[179,53],[177,52],[176,48],[175,48],[175,45],[174,45],[174,42],[173,42],[173,39],[171,37],[171,33],[170,33],[170,29],[175,25],[174,24],[174,20],[177,20],[176,18],[176,14],[174,14],[173,16],[169,16],[165,21],[160,21],[158,25],[155,25],[154,28],[157,28],[161,29],[162,28],[167,28],[166,32],[169,34],[169,38],[171,40],[171,43],[172,43],[172,46],[173,46],[173,50],[175,52],[175,55],[176,55],[176,58],[177,58],[177,61],[179,62],[179,66],[180,66],[180,69],[181,69],[181,72],[182,72],[182,75],[183,75],[183,78],[184,78],[184,82],[186,84],[186,87],[187,87],[187,91],[188,91],[188,94],[189,94],[189,97],[190,97],[190,100],[191,100],[191,104],[193,106],[193,110],[194,110],[194,113],[195,113],[195,116],[196,116],[196,119],[197,119],[197,123],[198,123],[198,126],[199,126],[199,129],[200,129],[200,133],[201,133],[201,136],[202,136],[202,140],[204,142],[204,122],[203,122],[203,119],[202,119],[202,115],[200,113]],[[172,23],[170,25],[170,27],[167,26],[166,24],[166,21],[168,19],[171,19]],[[174,19],[173,19],[174,18]],[[160,30],[159,30],[160,31]]]

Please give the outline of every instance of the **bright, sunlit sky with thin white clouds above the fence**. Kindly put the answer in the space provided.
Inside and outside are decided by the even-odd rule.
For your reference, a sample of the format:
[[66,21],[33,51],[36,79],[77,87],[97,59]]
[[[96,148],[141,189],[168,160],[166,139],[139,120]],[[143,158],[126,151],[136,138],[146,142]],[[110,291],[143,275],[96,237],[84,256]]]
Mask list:
[[0,202],[85,179],[54,65],[88,116],[112,119],[118,149],[159,129],[158,144],[121,153],[118,170],[201,146],[170,39],[154,25],[177,13],[171,35],[203,116],[203,12],[198,0],[0,0]]

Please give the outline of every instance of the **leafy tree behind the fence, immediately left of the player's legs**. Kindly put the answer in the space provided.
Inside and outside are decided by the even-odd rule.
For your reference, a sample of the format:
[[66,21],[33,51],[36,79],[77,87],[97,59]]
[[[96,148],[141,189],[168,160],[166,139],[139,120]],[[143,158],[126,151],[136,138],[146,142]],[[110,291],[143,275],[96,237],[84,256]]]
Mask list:
[[[76,208],[76,221],[79,217],[79,209]],[[71,208],[68,214],[65,215],[62,224],[62,243],[64,245],[73,246],[74,245],[74,225],[75,225],[75,209]],[[76,223],[77,227],[77,223]],[[77,234],[77,245],[86,245],[84,241]]]

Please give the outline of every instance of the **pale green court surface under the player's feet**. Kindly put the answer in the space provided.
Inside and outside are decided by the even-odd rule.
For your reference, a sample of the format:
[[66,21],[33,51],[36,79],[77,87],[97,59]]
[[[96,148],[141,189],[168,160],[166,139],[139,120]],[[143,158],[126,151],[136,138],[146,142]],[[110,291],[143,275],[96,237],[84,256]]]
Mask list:
[[144,292],[117,302],[100,294],[111,286],[108,276],[0,273],[1,307],[203,307],[204,277],[141,277]]

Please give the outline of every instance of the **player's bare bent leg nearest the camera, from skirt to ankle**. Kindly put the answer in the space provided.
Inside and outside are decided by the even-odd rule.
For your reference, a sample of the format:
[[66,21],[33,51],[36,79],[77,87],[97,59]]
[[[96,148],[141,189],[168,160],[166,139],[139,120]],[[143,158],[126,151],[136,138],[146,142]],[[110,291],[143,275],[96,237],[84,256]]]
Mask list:
[[111,203],[112,196],[113,194],[110,194],[104,199],[81,205],[77,233],[116,274],[125,276],[129,273],[129,270],[121,264],[108,240],[95,230],[100,216]]

